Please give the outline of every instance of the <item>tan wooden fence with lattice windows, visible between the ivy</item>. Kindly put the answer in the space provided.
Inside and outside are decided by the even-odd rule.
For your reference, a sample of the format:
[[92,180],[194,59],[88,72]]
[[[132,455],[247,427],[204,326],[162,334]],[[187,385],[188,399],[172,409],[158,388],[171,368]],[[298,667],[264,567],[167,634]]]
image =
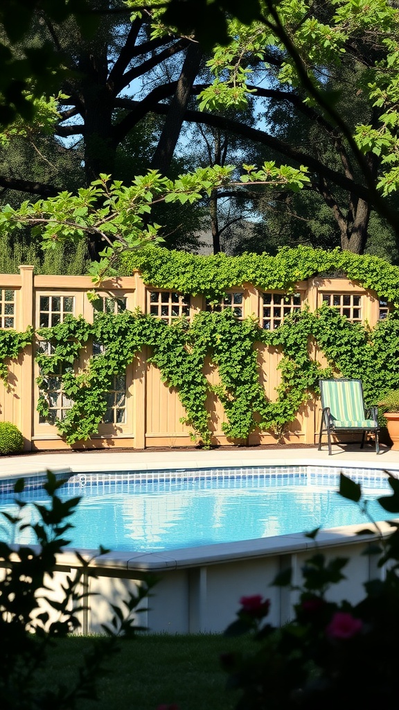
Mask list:
[[[93,322],[94,310],[87,292],[92,292],[89,276],[34,275],[33,266],[20,266],[18,275],[0,275],[0,327],[18,331],[28,326],[35,329],[52,327],[62,322],[65,315],[82,315]],[[97,290],[106,312],[140,309],[167,322],[181,316],[192,319],[197,312],[207,309],[201,295],[186,296],[173,291],[145,285],[138,273],[130,277],[113,278]],[[314,311],[327,302],[353,322],[368,322],[373,325],[385,317],[388,305],[380,302],[378,295],[365,290],[361,285],[345,278],[313,278],[297,283],[295,293],[285,295],[281,291],[261,292],[250,284],[234,288],[217,308],[231,307],[239,318],[255,315],[262,327],[275,329],[284,317],[299,310],[307,303]],[[37,411],[38,366],[34,359],[34,346],[28,346],[17,361],[9,364],[9,383],[0,388],[1,420],[13,422],[26,439],[26,449],[69,448],[58,434],[53,423],[55,417],[70,407],[57,378],[49,381],[49,416],[40,420]],[[90,346],[91,347],[91,346]],[[82,354],[82,360],[92,354],[90,348]],[[315,348],[312,357],[323,362],[322,354]],[[282,354],[271,346],[259,344],[259,376],[265,394],[275,400],[275,388],[280,382],[278,364]],[[147,361],[148,352],[143,348],[126,370],[126,377],[116,377],[114,390],[109,395],[104,421],[99,425],[98,435],[87,442],[77,442],[75,447],[182,447],[193,446],[190,427],[180,422],[185,410],[177,391],[161,381],[160,371]],[[324,363],[325,364],[325,363]],[[212,384],[218,382],[217,367],[207,359],[204,375]],[[207,410],[210,413],[212,443],[231,444],[222,431],[224,411],[217,395],[209,392]],[[303,407],[294,422],[288,427],[283,441],[314,444],[319,426],[319,403],[311,402]],[[270,432],[255,431],[246,440],[248,445],[268,444],[276,441]]]

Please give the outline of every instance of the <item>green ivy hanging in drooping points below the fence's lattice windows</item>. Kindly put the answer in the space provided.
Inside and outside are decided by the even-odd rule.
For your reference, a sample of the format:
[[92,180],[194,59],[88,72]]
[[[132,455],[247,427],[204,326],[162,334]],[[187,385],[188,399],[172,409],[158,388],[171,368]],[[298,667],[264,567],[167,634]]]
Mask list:
[[[99,314],[94,324],[67,316],[53,329],[42,329],[41,337],[53,343],[52,354],[38,354],[39,409],[45,416],[46,378],[62,372],[62,389],[74,402],[58,429],[73,444],[98,431],[106,410],[106,393],[112,377],[126,371],[141,348],[150,348],[149,361],[160,369],[163,381],[177,389],[192,427],[193,437],[205,447],[211,444],[209,391],[222,401],[226,422],[224,433],[234,440],[246,439],[257,426],[276,434],[295,420],[300,406],[318,392],[318,380],[339,372],[361,378],[369,405],[383,393],[399,388],[399,315],[394,313],[373,331],[351,323],[333,309],[297,312],[275,331],[264,331],[252,318],[237,320],[231,310],[200,312],[192,324],[182,319],[168,325],[139,312]],[[102,343],[102,351],[75,373],[72,363],[89,339]],[[275,402],[265,396],[259,381],[257,347],[272,345],[283,352],[281,383]],[[312,356],[317,344],[329,366],[322,368]],[[220,384],[210,385],[204,376],[206,357],[218,366]]]

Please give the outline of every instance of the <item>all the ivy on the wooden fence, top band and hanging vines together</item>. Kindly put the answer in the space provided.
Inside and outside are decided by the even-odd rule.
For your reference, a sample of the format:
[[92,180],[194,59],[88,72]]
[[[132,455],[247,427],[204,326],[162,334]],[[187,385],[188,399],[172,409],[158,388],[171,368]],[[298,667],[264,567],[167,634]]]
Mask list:
[[[235,259],[151,249],[137,252],[134,259],[129,268],[140,268],[145,282],[155,288],[203,293],[213,299],[242,283],[289,291],[297,280],[340,273],[398,307],[372,330],[349,322],[327,305],[316,312],[305,308],[288,315],[274,331],[262,329],[253,317],[238,320],[229,309],[200,312],[192,322],[182,318],[170,325],[139,311],[99,312],[92,324],[68,315],[55,327],[38,331],[45,346],[37,354],[40,414],[48,415],[46,390],[51,376],[61,378],[62,391],[72,400],[72,408],[57,422],[68,444],[98,432],[114,376],[124,374],[144,346],[163,381],[177,390],[187,413],[184,421],[204,447],[210,446],[212,438],[207,410],[210,392],[224,407],[224,433],[240,442],[256,427],[280,435],[300,407],[318,393],[320,377],[360,378],[368,405],[378,403],[391,388],[399,388],[398,267],[376,257],[307,247],[282,249],[275,257],[247,254]],[[17,356],[31,338],[31,331],[0,331],[0,376],[6,373],[4,359]],[[97,346],[88,357],[93,343]],[[282,354],[274,402],[266,398],[259,377],[262,346],[273,346]],[[326,367],[317,362],[315,349],[324,354]],[[218,368],[217,385],[211,385],[204,375],[207,359]],[[83,363],[80,368],[78,361]]]

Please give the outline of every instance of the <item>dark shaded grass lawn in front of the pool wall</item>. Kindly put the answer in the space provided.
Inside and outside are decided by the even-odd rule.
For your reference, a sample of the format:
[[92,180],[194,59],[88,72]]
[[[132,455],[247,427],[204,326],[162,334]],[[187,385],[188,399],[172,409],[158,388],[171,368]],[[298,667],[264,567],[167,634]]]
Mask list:
[[[50,666],[43,682],[51,678],[70,687],[91,640],[71,637],[50,651]],[[105,662],[107,672],[97,682],[98,701],[82,700],[80,710],[156,710],[160,704],[177,704],[180,710],[231,710],[238,695],[226,689],[227,674],[219,655],[245,647],[250,638],[222,635],[140,635],[121,640],[119,652]]]

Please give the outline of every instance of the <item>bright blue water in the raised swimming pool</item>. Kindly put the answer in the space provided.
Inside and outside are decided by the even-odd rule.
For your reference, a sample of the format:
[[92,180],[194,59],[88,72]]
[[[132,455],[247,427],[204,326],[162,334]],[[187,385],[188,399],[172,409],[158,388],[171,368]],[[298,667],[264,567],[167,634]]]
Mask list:
[[[387,476],[371,469],[259,466],[74,474],[59,496],[81,496],[68,532],[72,547],[160,552],[368,522],[355,503],[337,493],[340,472],[361,482],[374,520],[395,517],[375,500],[389,494]],[[0,509],[15,513],[11,481],[0,484]],[[21,498],[43,503],[40,485],[37,477],[26,479]],[[33,522],[33,506],[25,506],[23,516]],[[0,529],[6,539],[5,520]],[[26,528],[12,542],[32,544],[35,538]]]

